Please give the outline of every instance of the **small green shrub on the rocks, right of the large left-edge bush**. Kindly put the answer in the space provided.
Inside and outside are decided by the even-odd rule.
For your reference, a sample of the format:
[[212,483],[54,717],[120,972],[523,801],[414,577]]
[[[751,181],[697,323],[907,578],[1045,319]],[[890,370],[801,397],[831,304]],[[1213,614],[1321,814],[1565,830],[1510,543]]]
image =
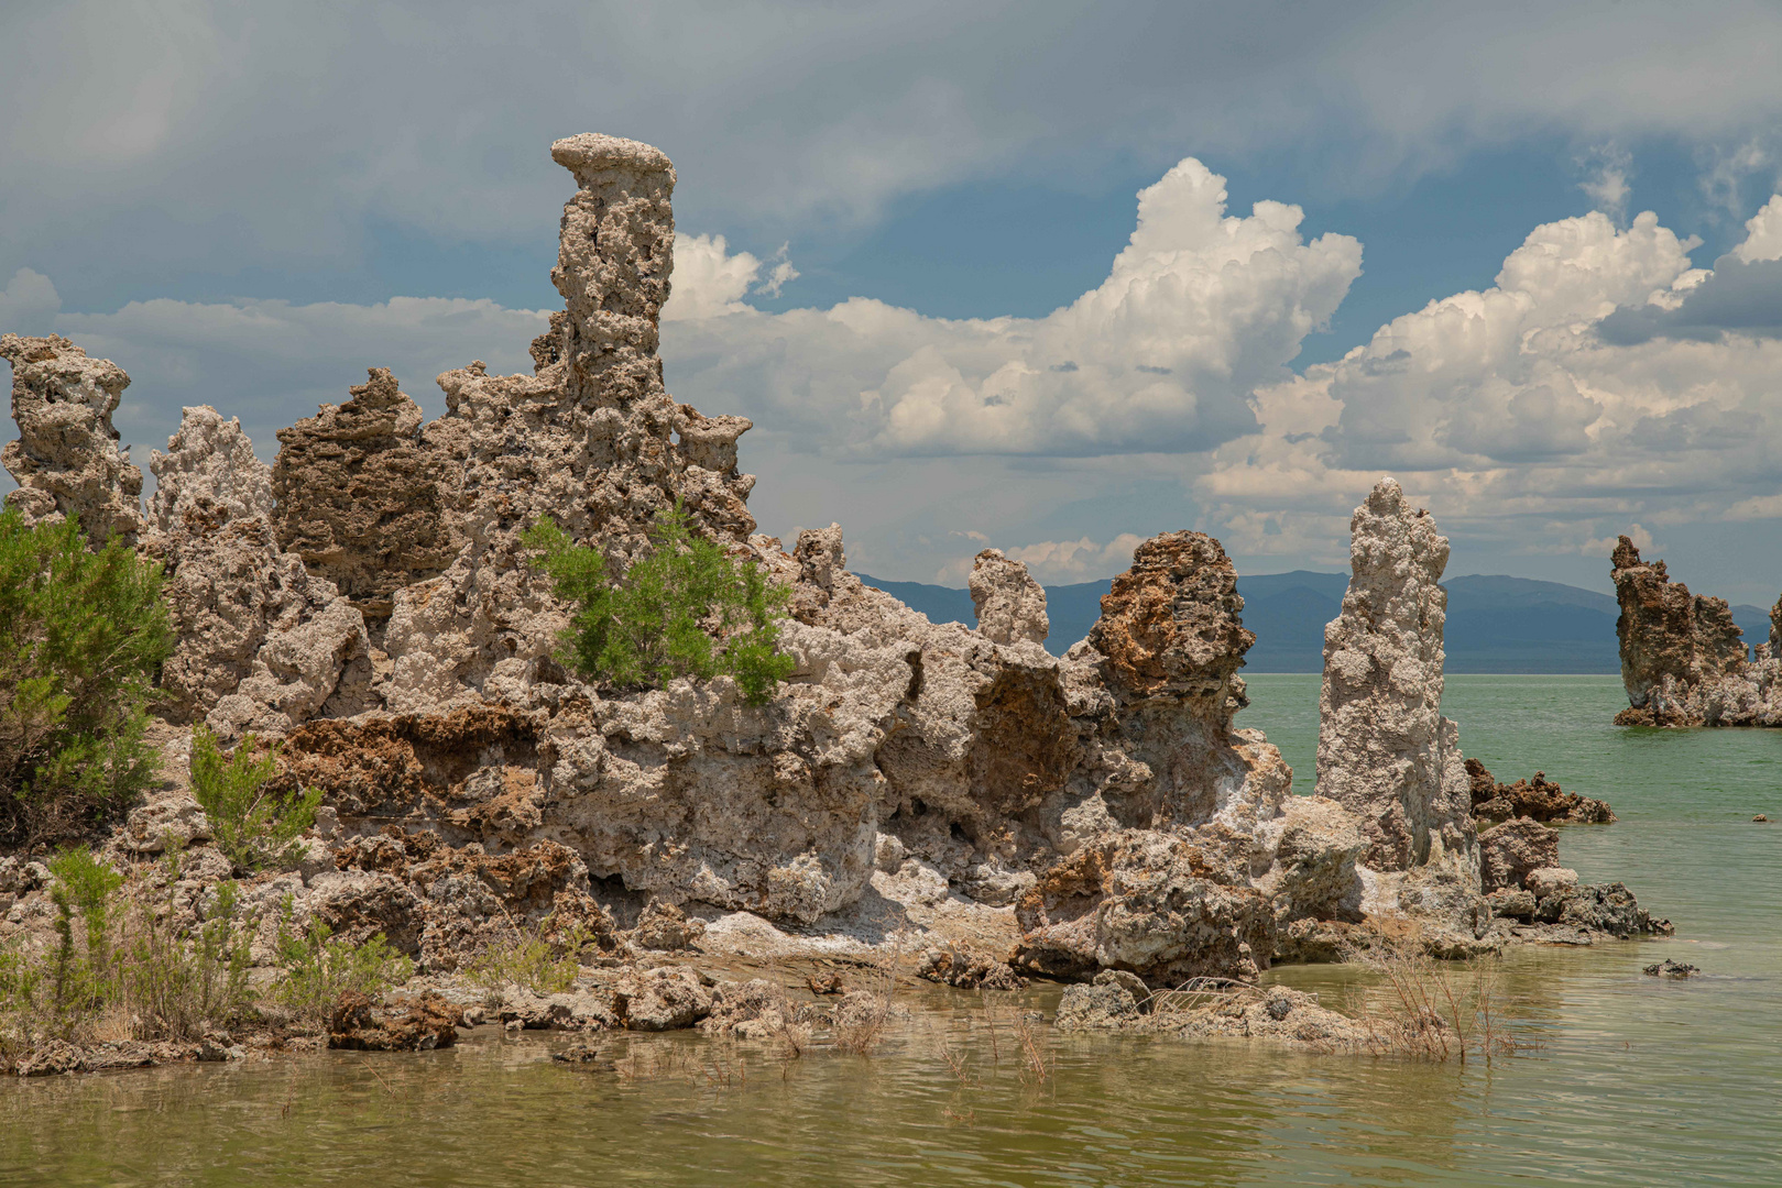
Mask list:
[[267,787],[278,775],[278,746],[253,753],[249,734],[228,759],[208,728],[192,732],[192,798],[210,818],[216,846],[239,871],[289,866],[298,835],[315,825],[319,787],[278,793]]

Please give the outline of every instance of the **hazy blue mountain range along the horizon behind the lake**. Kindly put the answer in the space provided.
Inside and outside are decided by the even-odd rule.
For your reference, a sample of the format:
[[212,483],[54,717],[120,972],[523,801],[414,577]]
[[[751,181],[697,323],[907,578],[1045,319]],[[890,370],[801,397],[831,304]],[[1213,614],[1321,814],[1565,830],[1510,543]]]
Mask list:
[[[859,574],[936,623],[971,625],[971,595],[950,586],[884,582]],[[1048,586],[1051,638],[1046,648],[1062,655],[1089,634],[1101,614],[1110,581]],[[1456,673],[1618,673],[1614,598],[1595,590],[1538,582],[1527,577],[1468,574],[1443,582],[1449,591],[1447,671]],[[1238,577],[1244,625],[1256,632],[1249,671],[1322,671],[1324,625],[1342,609],[1347,574],[1260,574]],[[1770,638],[1770,613],[1755,606],[1732,607],[1746,643]]]

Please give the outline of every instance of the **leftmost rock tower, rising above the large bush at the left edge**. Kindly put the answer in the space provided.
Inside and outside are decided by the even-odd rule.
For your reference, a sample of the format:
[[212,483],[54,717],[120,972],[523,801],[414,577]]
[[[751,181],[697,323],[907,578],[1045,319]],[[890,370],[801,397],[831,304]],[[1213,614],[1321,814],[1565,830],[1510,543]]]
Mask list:
[[12,420],[18,440],[0,465],[18,481],[5,497],[25,524],[78,517],[96,549],[116,533],[135,545],[143,531],[143,472],[118,449],[110,415],[130,376],[110,360],[61,335],[0,335],[0,358],[12,363]]

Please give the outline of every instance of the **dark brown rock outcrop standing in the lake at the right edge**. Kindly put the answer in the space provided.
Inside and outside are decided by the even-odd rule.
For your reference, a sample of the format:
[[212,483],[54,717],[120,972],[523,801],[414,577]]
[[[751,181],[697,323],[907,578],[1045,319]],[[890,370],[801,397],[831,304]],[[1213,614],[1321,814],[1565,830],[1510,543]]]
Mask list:
[[[1691,595],[1663,561],[1641,561],[1622,536],[1611,557],[1622,614],[1622,684],[1629,707],[1623,727],[1775,727],[1782,725],[1782,659],[1771,643],[1746,654],[1725,598]],[[1782,602],[1778,602],[1782,607]]]

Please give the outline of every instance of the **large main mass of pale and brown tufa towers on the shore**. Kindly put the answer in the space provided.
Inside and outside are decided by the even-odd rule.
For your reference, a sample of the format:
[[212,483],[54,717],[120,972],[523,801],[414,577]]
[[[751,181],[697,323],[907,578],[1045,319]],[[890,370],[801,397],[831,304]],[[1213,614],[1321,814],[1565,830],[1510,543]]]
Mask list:
[[[893,919],[996,949],[925,958],[953,985],[1255,978],[1331,955],[1370,915],[1411,915],[1456,953],[1524,917],[1584,919],[1566,905],[1600,889],[1575,876],[1493,915],[1488,892],[1533,894],[1556,851],[1522,823],[1515,844],[1475,835],[1440,716],[1447,541],[1397,483],[1356,509],[1319,794],[1292,796],[1279,752],[1233,728],[1255,636],[1203,533],[1144,541],[1062,657],[1041,647],[1044,590],[996,550],[971,574],[968,629],[864,586],[839,525],[791,549],[754,534],[738,468],[750,422],[679,404],[661,379],[672,166],[602,135],[552,155],[577,182],[552,271],[565,310],[533,374],[440,376],[433,422],[372,369],[282,431],[266,467],[239,422],[187,408],[151,458],[144,517],[109,422],[123,370],[64,338],[0,340],[23,435],[9,506],[78,515],[160,557],[178,629],[166,718],[280,737],[282,778],[326,794],[301,869],[249,892],[260,907],[289,896],[337,933],[381,932],[428,974],[515,921],[629,953],[768,921],[884,935]],[[625,563],[677,502],[791,593],[797,670],[764,705],[723,677],[627,693],[556,659],[568,609],[520,533],[551,517]],[[114,846],[208,853],[194,812],[175,780]],[[1554,860],[1529,866],[1529,848]],[[1590,926],[1638,930],[1616,903]],[[695,990],[704,1006],[681,1013],[718,1010]],[[645,1001],[681,1017],[681,990],[613,994],[636,1005],[586,1017]],[[342,1035],[435,1033],[369,1010],[342,1015]]]

